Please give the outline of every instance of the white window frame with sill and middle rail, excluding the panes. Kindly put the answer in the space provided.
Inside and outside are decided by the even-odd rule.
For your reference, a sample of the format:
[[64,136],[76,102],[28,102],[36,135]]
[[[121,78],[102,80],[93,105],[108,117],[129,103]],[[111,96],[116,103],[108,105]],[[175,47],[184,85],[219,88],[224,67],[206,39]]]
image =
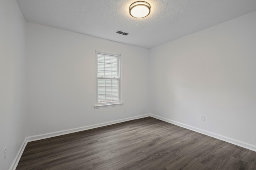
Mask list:
[[[118,77],[112,78],[112,77],[98,77],[98,55],[108,55],[108,56],[113,56],[117,57],[118,62],[117,62],[117,74]],[[121,55],[120,54],[114,54],[114,53],[106,53],[106,52],[101,52],[101,51],[95,51],[95,56],[96,56],[96,105],[94,106],[95,109],[102,108],[102,107],[114,107],[114,106],[122,106],[122,98],[121,98]],[[98,102],[98,79],[104,78],[104,79],[117,79],[118,80],[118,101],[117,102]]]

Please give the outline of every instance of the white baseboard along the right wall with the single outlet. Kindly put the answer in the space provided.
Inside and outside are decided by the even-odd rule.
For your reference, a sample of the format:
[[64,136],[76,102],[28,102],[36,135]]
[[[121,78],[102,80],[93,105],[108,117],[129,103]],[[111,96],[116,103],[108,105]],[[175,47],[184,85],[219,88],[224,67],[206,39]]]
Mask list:
[[186,129],[189,129],[189,130],[192,130],[192,131],[195,131],[195,132],[198,132],[198,133],[202,133],[204,135],[207,135],[207,136],[210,136],[210,137],[214,137],[216,139],[220,139],[222,141],[225,141],[225,142],[228,142],[228,143],[232,143],[232,144],[237,145],[239,147],[243,147],[243,148],[246,148],[246,149],[249,149],[249,150],[252,150],[252,151],[256,152],[256,146],[255,145],[251,145],[249,143],[245,143],[245,142],[242,142],[242,141],[238,141],[236,139],[232,139],[232,138],[225,137],[225,136],[222,136],[222,135],[219,135],[219,134],[216,134],[216,133],[205,131],[203,129],[199,129],[199,128],[196,128],[196,127],[193,127],[193,126],[190,126],[190,125],[179,123],[177,121],[173,121],[173,120],[170,120],[170,119],[158,116],[158,115],[150,114],[150,117],[154,117],[156,119],[159,119],[159,120],[162,120],[162,121],[166,121],[168,123],[172,123],[174,125],[177,125],[177,126],[180,126],[180,127],[184,127]]

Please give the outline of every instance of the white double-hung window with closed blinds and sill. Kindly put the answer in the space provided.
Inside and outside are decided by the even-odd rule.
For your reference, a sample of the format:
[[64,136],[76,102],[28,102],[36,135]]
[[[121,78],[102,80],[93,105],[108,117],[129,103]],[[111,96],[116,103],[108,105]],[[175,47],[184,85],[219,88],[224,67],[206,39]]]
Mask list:
[[121,102],[121,55],[96,51],[96,106],[120,106]]

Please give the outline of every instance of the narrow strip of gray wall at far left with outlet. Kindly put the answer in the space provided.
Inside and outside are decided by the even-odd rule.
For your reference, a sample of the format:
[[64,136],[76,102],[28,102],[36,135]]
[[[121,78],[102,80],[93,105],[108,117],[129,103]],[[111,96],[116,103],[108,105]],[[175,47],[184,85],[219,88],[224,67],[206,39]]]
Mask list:
[[0,1],[0,23],[0,169],[6,170],[26,137],[26,22],[16,0]]

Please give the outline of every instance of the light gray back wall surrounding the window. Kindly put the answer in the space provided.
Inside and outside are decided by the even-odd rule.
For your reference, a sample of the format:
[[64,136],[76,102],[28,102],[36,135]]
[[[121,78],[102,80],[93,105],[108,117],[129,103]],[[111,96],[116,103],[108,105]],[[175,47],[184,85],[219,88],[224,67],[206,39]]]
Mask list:
[[[148,49],[34,23],[27,42],[28,136],[149,112]],[[95,51],[121,54],[124,106],[94,109]]]

